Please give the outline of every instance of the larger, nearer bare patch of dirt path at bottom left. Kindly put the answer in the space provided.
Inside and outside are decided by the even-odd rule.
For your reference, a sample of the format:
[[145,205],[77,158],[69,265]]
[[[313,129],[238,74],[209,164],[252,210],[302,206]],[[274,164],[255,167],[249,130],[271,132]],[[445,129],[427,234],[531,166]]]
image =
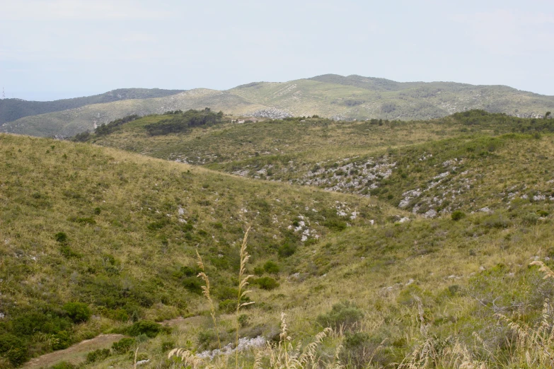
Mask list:
[[69,363],[81,363],[85,353],[96,350],[98,348],[110,348],[112,344],[125,337],[123,334],[100,334],[93,339],[74,344],[65,350],[54,351],[45,355],[33,358],[23,368],[48,368],[59,361],[67,361]]

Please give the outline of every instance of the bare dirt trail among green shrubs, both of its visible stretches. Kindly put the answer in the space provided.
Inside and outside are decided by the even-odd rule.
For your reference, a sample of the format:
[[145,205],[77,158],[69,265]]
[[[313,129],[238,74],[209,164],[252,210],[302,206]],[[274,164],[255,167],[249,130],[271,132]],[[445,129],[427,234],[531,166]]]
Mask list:
[[[190,324],[195,322],[201,322],[206,317],[178,317],[172,320],[166,320],[160,322],[160,324],[169,325],[171,327],[179,327],[182,324]],[[110,348],[114,342],[119,341],[125,337],[123,334],[100,334],[93,339],[87,339],[74,344],[65,350],[54,351],[46,353],[45,355],[33,358],[23,365],[24,369],[37,369],[37,368],[49,368],[50,366],[59,363],[60,361],[67,361],[68,363],[79,364],[84,361],[86,353],[97,350],[98,348]]]

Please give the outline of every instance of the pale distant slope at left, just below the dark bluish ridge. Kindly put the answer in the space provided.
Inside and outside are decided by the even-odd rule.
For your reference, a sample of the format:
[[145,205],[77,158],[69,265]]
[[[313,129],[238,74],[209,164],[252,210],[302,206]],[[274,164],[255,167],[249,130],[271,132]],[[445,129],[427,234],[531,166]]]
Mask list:
[[127,115],[161,114],[168,110],[203,109],[225,112],[249,112],[262,106],[249,102],[239,96],[217,90],[196,89],[163,98],[122,100],[105,104],[86,105],[76,109],[34,115],[8,122],[0,131],[29,134],[31,136],[73,136],[82,131],[111,122]]

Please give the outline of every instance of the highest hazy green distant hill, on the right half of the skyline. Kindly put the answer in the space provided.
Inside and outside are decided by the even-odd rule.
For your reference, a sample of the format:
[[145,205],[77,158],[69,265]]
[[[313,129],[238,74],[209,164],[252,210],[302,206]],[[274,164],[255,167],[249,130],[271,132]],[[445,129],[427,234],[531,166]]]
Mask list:
[[399,83],[335,74],[285,83],[249,83],[229,91],[294,116],[335,119],[432,119],[472,109],[531,117],[542,116],[554,107],[553,96],[507,86]]

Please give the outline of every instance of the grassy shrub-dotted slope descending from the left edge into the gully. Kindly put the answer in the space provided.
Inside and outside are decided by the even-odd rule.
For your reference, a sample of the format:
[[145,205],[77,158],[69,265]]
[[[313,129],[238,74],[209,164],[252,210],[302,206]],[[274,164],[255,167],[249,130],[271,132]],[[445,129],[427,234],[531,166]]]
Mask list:
[[[1,135],[0,147],[0,329],[25,337],[31,356],[49,351],[60,330],[79,341],[117,325],[110,318],[121,310],[163,320],[204,309],[180,274],[195,266],[196,249],[224,298],[246,225],[253,226],[253,261],[261,263],[277,259],[284,244],[301,250],[306,229],[306,242],[315,242],[344,227],[354,211],[352,225],[384,222],[388,214],[367,199],[88,144]],[[337,207],[349,209],[347,216]],[[290,229],[301,218],[306,225]],[[59,232],[69,240],[57,242]],[[283,269],[294,269],[295,260],[284,259]],[[62,328],[35,322],[36,334],[17,323],[64,320],[60,308],[70,301],[87,303],[101,318]]]

